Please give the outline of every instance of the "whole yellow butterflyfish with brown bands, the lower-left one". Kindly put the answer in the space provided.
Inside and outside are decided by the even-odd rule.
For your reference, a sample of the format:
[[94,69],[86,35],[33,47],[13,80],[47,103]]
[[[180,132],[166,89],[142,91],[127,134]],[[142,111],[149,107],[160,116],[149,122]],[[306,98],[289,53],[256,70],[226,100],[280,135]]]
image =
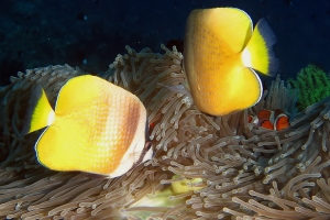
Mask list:
[[96,76],[68,80],[55,111],[37,86],[22,133],[48,125],[35,144],[38,162],[54,170],[116,177],[152,157],[146,110],[138,97]]

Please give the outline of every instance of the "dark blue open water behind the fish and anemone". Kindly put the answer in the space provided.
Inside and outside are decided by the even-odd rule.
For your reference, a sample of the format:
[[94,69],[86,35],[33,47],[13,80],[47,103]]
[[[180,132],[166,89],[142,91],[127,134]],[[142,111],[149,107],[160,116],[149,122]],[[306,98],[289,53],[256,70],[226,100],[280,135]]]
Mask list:
[[161,52],[161,43],[180,43],[193,9],[215,7],[242,9],[254,24],[266,19],[277,37],[274,50],[283,79],[310,63],[329,72],[327,0],[2,0],[0,86],[19,70],[55,64],[99,74],[125,45]]

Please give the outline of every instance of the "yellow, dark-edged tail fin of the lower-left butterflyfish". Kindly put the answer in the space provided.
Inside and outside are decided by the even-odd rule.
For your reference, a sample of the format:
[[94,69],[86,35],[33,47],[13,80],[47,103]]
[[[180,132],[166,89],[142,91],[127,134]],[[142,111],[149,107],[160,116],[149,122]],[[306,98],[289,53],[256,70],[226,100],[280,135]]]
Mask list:
[[52,109],[44,89],[37,85],[29,101],[22,134],[28,134],[53,123],[55,112]]

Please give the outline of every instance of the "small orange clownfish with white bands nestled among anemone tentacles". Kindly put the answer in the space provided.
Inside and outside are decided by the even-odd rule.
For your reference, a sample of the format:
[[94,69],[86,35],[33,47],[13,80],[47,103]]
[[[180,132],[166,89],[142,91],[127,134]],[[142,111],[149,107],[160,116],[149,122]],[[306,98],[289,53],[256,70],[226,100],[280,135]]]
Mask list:
[[256,117],[249,116],[249,123],[255,123],[275,131],[280,131],[290,125],[288,117],[279,109],[275,111],[262,109],[257,112]]

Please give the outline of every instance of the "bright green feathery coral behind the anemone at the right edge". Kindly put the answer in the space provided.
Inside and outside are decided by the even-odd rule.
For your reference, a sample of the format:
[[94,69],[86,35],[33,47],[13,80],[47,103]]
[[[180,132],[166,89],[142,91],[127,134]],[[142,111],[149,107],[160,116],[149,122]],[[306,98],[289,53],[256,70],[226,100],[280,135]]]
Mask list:
[[306,107],[316,103],[330,96],[329,76],[315,65],[308,65],[302,68],[297,79],[288,79],[287,81],[295,89],[299,89],[298,109],[304,110]]

